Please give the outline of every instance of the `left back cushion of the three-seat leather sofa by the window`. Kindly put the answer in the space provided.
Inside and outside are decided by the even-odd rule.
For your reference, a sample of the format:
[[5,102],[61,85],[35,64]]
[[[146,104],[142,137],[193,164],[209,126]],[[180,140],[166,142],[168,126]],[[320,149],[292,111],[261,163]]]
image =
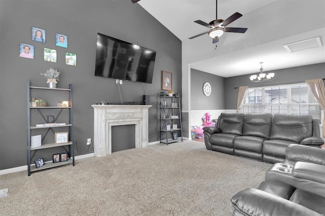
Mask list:
[[222,133],[242,135],[245,114],[221,113],[218,127]]

